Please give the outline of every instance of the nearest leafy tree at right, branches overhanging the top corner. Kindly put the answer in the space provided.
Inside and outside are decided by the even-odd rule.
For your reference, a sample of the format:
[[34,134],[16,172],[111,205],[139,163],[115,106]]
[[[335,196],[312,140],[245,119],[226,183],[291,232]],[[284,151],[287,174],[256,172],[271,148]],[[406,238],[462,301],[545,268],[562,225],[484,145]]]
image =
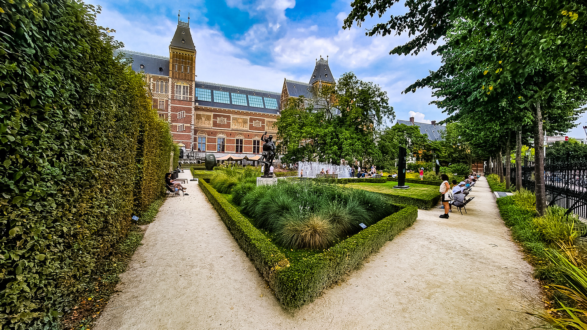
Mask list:
[[[356,0],[345,19],[345,28],[365,21],[367,15],[381,17],[397,1]],[[391,16],[375,25],[367,35],[392,31],[414,36],[390,53],[417,54],[438,39],[443,45],[433,50],[453,59],[409,89],[428,86],[442,76],[470,73],[474,83],[471,102],[483,102],[496,95],[519,95],[531,110],[534,144],[543,143],[543,103],[546,97],[573,85],[584,85],[587,73],[585,3],[562,1],[431,1],[406,2],[407,14]],[[478,68],[477,72],[470,72]],[[525,87],[525,97],[520,95]],[[553,109],[553,108],[551,108]],[[537,149],[535,190],[537,210],[546,210],[544,154]]]

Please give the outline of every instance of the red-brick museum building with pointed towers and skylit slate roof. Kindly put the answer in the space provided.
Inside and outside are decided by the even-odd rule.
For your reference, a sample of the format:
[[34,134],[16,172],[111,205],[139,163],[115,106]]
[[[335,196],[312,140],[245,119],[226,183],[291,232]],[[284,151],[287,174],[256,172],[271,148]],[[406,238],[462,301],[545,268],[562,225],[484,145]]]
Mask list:
[[[132,68],[144,72],[159,117],[171,126],[183,151],[203,157],[262,152],[261,136],[275,136],[276,120],[290,97],[311,97],[314,88],[332,84],[328,60],[319,59],[309,83],[284,79],[281,93],[195,80],[196,50],[190,23],[178,20],[169,57],[123,50]],[[191,152],[189,152],[191,154]]]

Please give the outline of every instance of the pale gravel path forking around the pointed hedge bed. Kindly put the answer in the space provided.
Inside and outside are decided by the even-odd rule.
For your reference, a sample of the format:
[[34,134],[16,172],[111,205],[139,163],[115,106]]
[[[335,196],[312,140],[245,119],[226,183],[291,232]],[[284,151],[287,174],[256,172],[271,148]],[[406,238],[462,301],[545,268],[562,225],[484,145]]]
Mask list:
[[[184,173],[184,177],[187,177]],[[527,329],[541,308],[532,267],[512,243],[485,180],[450,218],[416,223],[342,285],[281,308],[193,182],[168,198],[95,330]]]

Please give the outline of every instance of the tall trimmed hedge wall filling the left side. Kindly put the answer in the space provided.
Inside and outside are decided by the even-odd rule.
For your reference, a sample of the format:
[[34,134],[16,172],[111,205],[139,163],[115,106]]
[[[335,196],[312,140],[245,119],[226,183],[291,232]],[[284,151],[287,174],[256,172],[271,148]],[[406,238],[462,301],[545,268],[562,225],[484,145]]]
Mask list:
[[14,0],[0,16],[0,325],[59,329],[161,189],[171,137],[90,6]]

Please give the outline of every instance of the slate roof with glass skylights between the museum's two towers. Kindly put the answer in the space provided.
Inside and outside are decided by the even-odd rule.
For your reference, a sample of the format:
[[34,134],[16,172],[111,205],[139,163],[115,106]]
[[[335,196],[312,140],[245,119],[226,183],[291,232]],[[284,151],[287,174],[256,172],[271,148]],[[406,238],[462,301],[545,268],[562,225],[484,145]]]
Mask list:
[[[278,92],[271,92],[269,90],[262,90],[262,89],[252,89],[247,87],[238,87],[238,86],[231,86],[231,85],[223,85],[220,83],[210,83],[210,82],[202,82],[196,80],[195,82],[196,88],[203,88],[203,89],[210,89],[212,90],[211,93],[211,101],[205,101],[198,99],[198,105],[201,106],[210,106],[210,107],[220,107],[223,109],[234,109],[234,110],[245,110],[251,112],[264,112],[264,113],[274,113],[279,114],[279,99],[281,98],[281,93]],[[254,106],[242,106],[242,105],[235,105],[231,103],[222,103],[222,102],[215,102],[214,99],[214,90],[221,90],[223,92],[230,92],[230,93],[239,93],[239,94],[246,94],[246,95],[253,95],[253,96],[262,96],[262,97],[271,97],[271,99],[276,100],[276,105],[278,109],[268,109],[267,107],[254,107]],[[248,98],[248,97],[247,97]],[[232,99],[231,99],[232,100]]]

